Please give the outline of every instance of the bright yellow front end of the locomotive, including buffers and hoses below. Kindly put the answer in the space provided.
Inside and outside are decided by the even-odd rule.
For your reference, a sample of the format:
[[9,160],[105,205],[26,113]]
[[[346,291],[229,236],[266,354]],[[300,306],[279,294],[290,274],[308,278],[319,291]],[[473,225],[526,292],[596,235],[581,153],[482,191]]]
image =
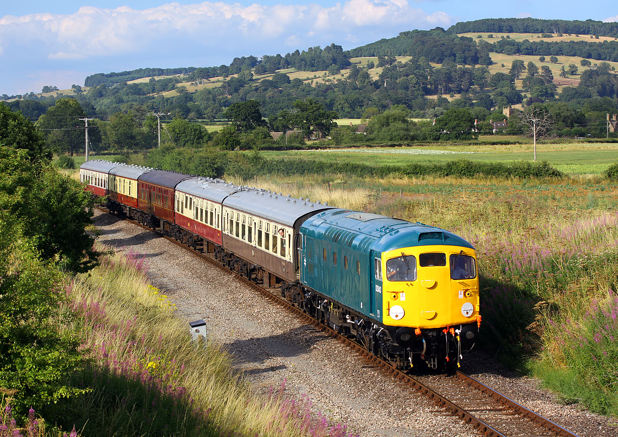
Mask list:
[[391,337],[430,367],[459,366],[481,323],[475,250],[418,245],[383,252],[381,260]]

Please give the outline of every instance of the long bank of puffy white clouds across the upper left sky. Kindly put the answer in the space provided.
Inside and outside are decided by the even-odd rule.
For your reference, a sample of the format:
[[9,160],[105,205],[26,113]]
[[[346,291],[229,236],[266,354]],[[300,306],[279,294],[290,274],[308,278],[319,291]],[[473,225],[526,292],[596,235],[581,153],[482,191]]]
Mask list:
[[[239,37],[252,40],[288,38],[290,33],[326,30],[344,35],[360,28],[416,28],[447,25],[444,12],[427,15],[410,7],[407,0],[348,0],[332,7],[276,4],[264,6],[238,3],[176,2],[149,9],[128,6],[116,9],[81,7],[74,14],[7,15],[0,19],[0,49],[9,44],[40,43],[49,48],[50,59],[109,56],[135,53],[153,41],[198,38],[201,46],[218,45]],[[20,38],[26,35],[24,43]],[[65,57],[66,59],[66,57]]]

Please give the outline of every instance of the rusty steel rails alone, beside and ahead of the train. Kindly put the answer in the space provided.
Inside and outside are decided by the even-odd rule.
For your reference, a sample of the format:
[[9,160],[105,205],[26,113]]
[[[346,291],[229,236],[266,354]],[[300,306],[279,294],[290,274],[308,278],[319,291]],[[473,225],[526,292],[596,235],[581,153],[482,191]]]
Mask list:
[[[96,208],[99,208],[102,211],[108,211],[106,208],[101,207],[101,206],[97,206]],[[538,431],[536,433],[526,433],[525,431],[522,432],[521,430],[510,432],[510,433],[505,432],[504,430],[499,431],[496,429],[497,426],[489,425],[489,423],[487,423],[485,420],[482,420],[481,418],[473,415],[471,412],[471,409],[466,410],[464,407],[455,404],[455,402],[452,402],[449,399],[447,399],[447,397],[442,396],[442,394],[439,394],[435,389],[432,389],[426,384],[423,384],[419,380],[419,378],[415,378],[411,375],[408,375],[407,373],[403,371],[400,371],[399,369],[394,367],[391,363],[384,361],[383,359],[381,359],[380,357],[377,357],[374,354],[371,354],[371,352],[366,350],[364,347],[362,347],[357,342],[352,341],[352,339],[349,339],[348,337],[345,337],[342,334],[339,334],[337,331],[330,328],[329,326],[323,325],[323,323],[311,317],[307,313],[303,312],[302,310],[300,310],[300,308],[296,307],[295,305],[288,302],[287,300],[282,299],[282,297],[279,297],[276,294],[274,294],[274,292],[279,291],[279,289],[268,289],[266,287],[262,287],[259,284],[256,284],[255,282],[250,281],[250,279],[246,278],[242,274],[236,271],[233,271],[231,269],[228,269],[224,264],[220,263],[218,260],[215,260],[214,257],[210,256],[210,254],[208,253],[200,252],[191,247],[188,247],[182,242],[179,242],[178,240],[173,239],[169,235],[166,235],[164,232],[158,231],[156,229],[152,229],[151,227],[148,227],[148,226],[144,226],[143,224],[138,223],[137,221],[133,219],[129,219],[129,218],[124,218],[124,219],[129,221],[132,224],[135,224],[136,226],[142,227],[143,229],[148,229],[151,232],[155,232],[156,234],[161,235],[161,237],[164,237],[165,239],[178,245],[179,247],[184,248],[185,250],[189,250],[191,253],[193,253],[194,255],[197,255],[199,258],[205,260],[211,265],[216,266],[219,269],[222,269],[222,271],[226,271],[227,273],[229,272],[234,273],[236,279],[239,279],[243,284],[250,287],[253,291],[260,293],[269,301],[273,303],[277,303],[281,307],[286,308],[286,310],[298,316],[298,318],[302,319],[306,323],[315,326],[315,328],[320,329],[320,331],[323,331],[329,336],[338,339],[339,341],[344,343],[346,346],[351,347],[353,350],[355,350],[355,352],[358,352],[358,354],[360,354],[363,359],[375,365],[375,367],[379,368],[384,373],[387,373],[388,375],[393,376],[394,378],[396,378],[396,380],[399,380],[402,383],[412,386],[416,391],[420,392],[420,394],[422,394],[425,397],[428,397],[431,401],[433,401],[434,404],[436,404],[438,407],[446,410],[451,415],[459,417],[465,423],[468,423],[468,425],[473,426],[474,428],[476,428],[476,430],[480,431],[486,436],[489,436],[489,437],[515,437],[515,436],[517,437],[554,437],[554,436],[556,437],[578,437],[575,433],[572,433],[571,431],[563,428],[560,425],[557,425],[551,420],[539,414],[536,414],[535,412],[527,409],[526,407],[523,407],[523,405],[520,405],[517,402],[512,401],[512,399],[509,399],[508,397],[502,395],[500,392],[497,392],[494,389],[489,388],[485,384],[480,383],[479,381],[475,380],[471,376],[465,375],[465,373],[461,371],[457,371],[455,373],[455,376],[451,378],[452,380],[459,380],[462,383],[467,384],[467,386],[470,386],[476,389],[480,394],[483,394],[483,396],[485,396],[486,398],[494,399],[494,401],[497,401],[499,402],[499,404],[503,405],[504,407],[507,407],[507,409],[499,409],[499,410],[491,409],[491,408],[488,409],[486,407],[483,409],[475,409],[475,410],[479,410],[482,412],[494,412],[494,413],[500,412],[502,414],[504,414],[505,412],[508,413],[509,411],[512,411],[513,413],[512,416],[519,415],[520,417],[530,420],[531,422],[544,428],[544,431]]]

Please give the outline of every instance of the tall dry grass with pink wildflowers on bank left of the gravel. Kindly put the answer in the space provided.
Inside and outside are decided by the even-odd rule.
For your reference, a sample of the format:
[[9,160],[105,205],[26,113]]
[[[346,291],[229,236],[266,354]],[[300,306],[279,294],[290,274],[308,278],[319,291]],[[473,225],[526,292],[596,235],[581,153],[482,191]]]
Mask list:
[[43,412],[65,429],[75,424],[95,436],[349,435],[284,387],[256,394],[224,350],[191,342],[135,253],[108,251],[100,266],[70,282],[67,296],[58,323],[80,333],[89,360],[70,376],[87,393]]

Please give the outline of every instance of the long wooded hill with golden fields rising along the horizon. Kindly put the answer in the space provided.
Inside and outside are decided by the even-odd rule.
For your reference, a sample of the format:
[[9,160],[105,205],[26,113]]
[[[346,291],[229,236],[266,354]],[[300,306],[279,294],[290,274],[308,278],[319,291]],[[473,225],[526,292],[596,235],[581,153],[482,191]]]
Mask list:
[[[542,33],[493,35],[488,32],[498,31],[491,29]],[[549,29],[596,35],[548,34]],[[455,31],[479,34],[460,36]],[[339,117],[360,118],[402,105],[410,117],[439,117],[455,107],[479,109],[479,119],[509,105],[557,101],[583,108],[588,100],[598,100],[601,103],[588,104],[596,115],[587,126],[603,121],[606,112],[618,112],[618,41],[611,36],[615,32],[616,23],[591,20],[479,20],[457,23],[449,30],[402,32],[350,51],[331,44],[285,56],[236,57],[229,66],[96,74],[86,78],[85,88],[30,93],[9,105],[38,119],[57,98],[70,95],[93,116],[132,111],[142,117],[156,110],[171,112],[172,117],[214,120],[224,117],[234,103],[256,100],[271,121],[269,127],[276,130],[281,128],[280,112],[308,98]],[[155,76],[159,73],[163,75]]]

